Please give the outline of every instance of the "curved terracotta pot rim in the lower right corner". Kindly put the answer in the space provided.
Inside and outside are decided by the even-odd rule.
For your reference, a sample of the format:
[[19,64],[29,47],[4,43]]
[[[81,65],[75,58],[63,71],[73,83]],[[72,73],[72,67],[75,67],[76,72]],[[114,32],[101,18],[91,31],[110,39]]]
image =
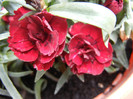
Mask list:
[[129,60],[129,68],[124,74],[118,74],[105,91],[94,99],[133,99],[133,51]]

